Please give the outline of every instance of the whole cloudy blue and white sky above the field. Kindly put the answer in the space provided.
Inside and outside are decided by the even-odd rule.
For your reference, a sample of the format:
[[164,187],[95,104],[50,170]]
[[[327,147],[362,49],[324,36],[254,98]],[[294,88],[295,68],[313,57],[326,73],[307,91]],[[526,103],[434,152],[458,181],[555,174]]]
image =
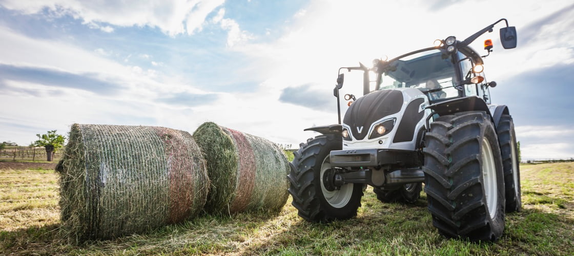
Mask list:
[[[506,18],[517,48],[502,48],[503,23],[471,44],[494,42],[492,103],[509,107],[523,159],[571,158],[573,16],[565,0],[0,0],[0,141],[73,123],[193,133],[210,121],[297,148],[317,135],[303,129],[338,122],[339,67]],[[362,94],[357,75],[342,94]]]

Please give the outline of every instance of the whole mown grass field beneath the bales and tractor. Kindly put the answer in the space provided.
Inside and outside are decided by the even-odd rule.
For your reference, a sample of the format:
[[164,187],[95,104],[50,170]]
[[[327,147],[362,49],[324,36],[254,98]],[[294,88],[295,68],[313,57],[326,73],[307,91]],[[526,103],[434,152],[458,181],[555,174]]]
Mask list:
[[497,243],[442,238],[426,198],[382,204],[367,189],[354,219],[313,224],[290,199],[278,215],[202,216],[149,234],[70,245],[57,235],[57,174],[0,169],[0,255],[572,255],[574,163],[521,165],[523,210]]

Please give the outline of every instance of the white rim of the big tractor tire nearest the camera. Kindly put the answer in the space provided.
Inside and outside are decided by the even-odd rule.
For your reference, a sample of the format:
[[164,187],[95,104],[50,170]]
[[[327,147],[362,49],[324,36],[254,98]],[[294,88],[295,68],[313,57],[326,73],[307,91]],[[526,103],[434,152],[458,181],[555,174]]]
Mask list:
[[486,138],[482,138],[482,180],[488,214],[493,219],[494,215],[497,214],[498,204],[497,169],[494,164],[492,148],[490,148],[490,143]]

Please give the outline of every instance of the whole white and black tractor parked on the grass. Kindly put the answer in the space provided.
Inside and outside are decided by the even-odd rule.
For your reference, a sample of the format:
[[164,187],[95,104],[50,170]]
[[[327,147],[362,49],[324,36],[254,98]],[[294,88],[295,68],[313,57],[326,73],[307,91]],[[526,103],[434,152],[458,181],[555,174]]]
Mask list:
[[[496,241],[505,213],[521,208],[517,143],[509,108],[490,104],[496,83],[485,79],[483,58],[492,41],[486,56],[468,45],[501,21],[503,48],[515,48],[516,30],[501,19],[463,41],[451,36],[373,67],[340,68],[333,90],[339,123],[305,129],[322,135],[301,143],[290,163],[299,216],[352,218],[367,185],[383,202],[414,203],[424,183],[440,234]],[[364,72],[363,96],[344,96],[343,122],[342,70]]]

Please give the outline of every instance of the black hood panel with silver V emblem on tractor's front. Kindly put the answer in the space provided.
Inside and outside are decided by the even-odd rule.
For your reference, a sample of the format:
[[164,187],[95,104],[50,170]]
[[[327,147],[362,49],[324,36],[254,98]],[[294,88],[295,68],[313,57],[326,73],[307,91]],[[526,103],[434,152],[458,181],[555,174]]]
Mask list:
[[369,133],[373,122],[401,111],[402,101],[401,91],[371,92],[351,104],[343,123],[350,126],[350,132],[355,139],[363,139]]

